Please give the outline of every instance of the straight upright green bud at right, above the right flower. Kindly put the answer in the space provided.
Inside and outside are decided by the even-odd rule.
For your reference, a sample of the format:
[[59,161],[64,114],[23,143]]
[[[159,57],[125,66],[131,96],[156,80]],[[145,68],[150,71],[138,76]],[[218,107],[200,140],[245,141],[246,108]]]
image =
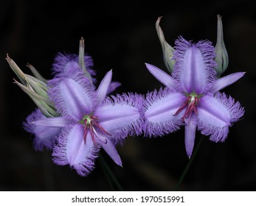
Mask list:
[[224,35],[222,28],[221,15],[217,15],[218,25],[217,25],[217,43],[215,46],[215,62],[218,64],[216,68],[217,77],[221,77],[221,74],[226,71],[227,66],[229,65],[229,57],[226,51],[226,47],[224,44]]

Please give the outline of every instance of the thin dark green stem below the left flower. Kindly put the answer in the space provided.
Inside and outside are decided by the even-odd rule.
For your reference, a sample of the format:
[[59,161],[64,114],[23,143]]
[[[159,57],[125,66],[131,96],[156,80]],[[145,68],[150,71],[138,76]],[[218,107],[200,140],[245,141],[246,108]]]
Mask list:
[[[100,152],[99,152],[99,154],[100,154]],[[100,160],[100,166],[103,169],[106,180],[108,181],[108,184],[109,184],[111,190],[115,191],[114,188],[117,188],[118,191],[123,191],[122,186],[117,181],[117,178],[114,176],[111,169],[108,167],[108,164],[105,162],[103,155],[101,155],[101,154],[99,155],[99,160]]]

